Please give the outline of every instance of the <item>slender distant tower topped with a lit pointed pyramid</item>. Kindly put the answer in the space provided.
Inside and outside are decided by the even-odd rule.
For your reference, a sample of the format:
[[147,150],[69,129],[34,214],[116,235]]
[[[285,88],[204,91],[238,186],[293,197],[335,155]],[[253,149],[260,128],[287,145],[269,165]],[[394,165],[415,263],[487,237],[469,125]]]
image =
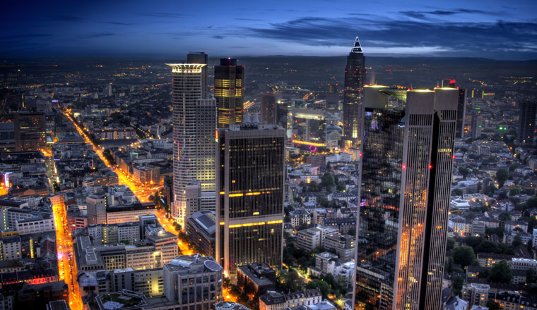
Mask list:
[[343,136],[341,147],[358,147],[362,138],[362,89],[365,85],[365,57],[356,37],[347,56],[343,89]]

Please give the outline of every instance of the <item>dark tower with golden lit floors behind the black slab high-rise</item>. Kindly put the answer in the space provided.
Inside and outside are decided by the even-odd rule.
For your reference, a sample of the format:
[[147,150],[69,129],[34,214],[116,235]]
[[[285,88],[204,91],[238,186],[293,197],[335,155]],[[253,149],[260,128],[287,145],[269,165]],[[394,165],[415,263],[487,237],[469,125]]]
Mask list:
[[214,97],[218,103],[218,128],[242,123],[244,66],[237,59],[222,58],[214,66]]

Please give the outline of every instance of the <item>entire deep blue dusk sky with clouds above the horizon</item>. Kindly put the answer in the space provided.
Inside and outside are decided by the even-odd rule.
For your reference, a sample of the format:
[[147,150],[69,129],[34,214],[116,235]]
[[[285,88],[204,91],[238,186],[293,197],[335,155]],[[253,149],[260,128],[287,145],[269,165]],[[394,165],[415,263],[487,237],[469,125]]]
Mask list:
[[[434,3],[437,4],[434,4]],[[536,0],[5,1],[0,57],[537,58]]]

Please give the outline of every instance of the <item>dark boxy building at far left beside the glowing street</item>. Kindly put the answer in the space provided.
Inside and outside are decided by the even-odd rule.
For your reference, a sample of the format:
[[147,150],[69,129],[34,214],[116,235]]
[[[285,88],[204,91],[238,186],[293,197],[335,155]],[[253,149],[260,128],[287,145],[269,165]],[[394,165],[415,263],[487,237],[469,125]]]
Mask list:
[[38,151],[47,147],[45,113],[20,113],[13,116],[16,151]]

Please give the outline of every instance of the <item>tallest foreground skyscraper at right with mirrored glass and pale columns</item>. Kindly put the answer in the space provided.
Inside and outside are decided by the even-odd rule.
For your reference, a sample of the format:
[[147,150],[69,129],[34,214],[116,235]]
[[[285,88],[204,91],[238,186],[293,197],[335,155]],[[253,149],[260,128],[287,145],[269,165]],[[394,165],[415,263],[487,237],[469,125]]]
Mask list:
[[440,309],[458,91],[364,91],[355,309]]

